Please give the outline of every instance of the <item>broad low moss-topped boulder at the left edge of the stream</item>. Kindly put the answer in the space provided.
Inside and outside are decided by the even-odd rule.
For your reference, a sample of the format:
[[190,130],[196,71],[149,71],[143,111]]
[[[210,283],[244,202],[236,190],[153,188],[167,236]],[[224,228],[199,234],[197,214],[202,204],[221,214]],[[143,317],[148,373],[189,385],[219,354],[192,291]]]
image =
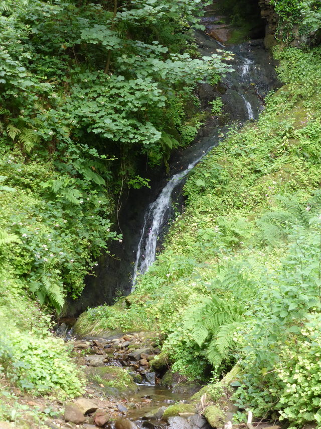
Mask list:
[[99,390],[102,389],[107,396],[117,397],[123,394],[131,394],[138,390],[133,378],[122,368],[88,368],[86,375],[88,381],[93,383]]

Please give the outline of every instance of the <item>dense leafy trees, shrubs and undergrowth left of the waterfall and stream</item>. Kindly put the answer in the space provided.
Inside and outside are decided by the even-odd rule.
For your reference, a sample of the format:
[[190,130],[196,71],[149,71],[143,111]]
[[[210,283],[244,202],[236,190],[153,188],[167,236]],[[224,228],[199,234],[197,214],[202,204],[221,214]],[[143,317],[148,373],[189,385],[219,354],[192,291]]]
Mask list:
[[0,2],[0,377],[9,388],[81,391],[49,315],[121,241],[117,200],[148,184],[141,165],[193,140],[197,82],[229,68],[197,53],[190,28],[202,6]]

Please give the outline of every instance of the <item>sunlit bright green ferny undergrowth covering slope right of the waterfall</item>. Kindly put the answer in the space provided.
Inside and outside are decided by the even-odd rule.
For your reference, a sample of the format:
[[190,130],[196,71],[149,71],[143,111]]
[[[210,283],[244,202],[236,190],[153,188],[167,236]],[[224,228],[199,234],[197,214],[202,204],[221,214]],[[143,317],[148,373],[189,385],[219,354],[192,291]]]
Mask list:
[[160,330],[172,369],[194,379],[239,362],[240,408],[302,427],[321,421],[321,50],[275,56],[284,87],[194,169],[134,293],[78,329]]

